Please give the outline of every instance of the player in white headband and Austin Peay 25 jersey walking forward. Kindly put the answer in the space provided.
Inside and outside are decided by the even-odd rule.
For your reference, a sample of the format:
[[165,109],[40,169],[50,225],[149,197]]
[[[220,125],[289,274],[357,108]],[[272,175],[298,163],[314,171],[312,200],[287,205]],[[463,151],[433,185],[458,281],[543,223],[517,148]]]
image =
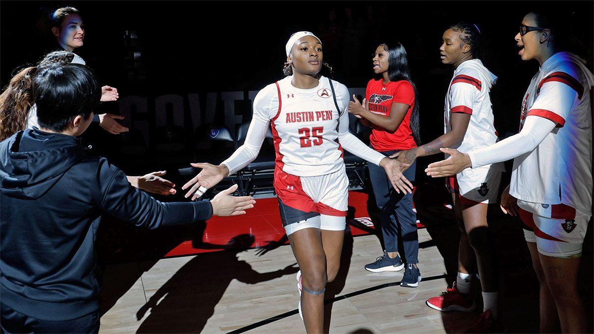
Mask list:
[[286,77],[260,90],[245,144],[221,165],[193,163],[203,170],[182,189],[200,197],[227,175],[257,157],[268,125],[276,147],[274,188],[283,226],[301,269],[300,313],[308,333],[321,333],[326,283],[336,277],[345,231],[348,179],[343,149],[386,169],[397,191],[412,191],[404,166],[367,147],[349,133],[349,91],[321,76],[320,39],[308,31],[293,34],[285,47]]

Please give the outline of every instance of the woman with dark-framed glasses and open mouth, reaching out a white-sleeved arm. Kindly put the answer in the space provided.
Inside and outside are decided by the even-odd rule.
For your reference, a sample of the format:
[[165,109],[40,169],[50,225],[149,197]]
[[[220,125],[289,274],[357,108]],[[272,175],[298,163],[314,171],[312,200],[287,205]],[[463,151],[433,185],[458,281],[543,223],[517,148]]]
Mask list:
[[511,184],[501,209],[519,215],[540,286],[540,330],[584,333],[586,316],[577,272],[592,216],[592,111],[594,75],[585,61],[562,52],[558,12],[530,12],[516,42],[522,60],[540,68],[526,90],[520,133],[483,149],[460,153],[441,149],[451,159],[432,163],[432,177],[514,159]]

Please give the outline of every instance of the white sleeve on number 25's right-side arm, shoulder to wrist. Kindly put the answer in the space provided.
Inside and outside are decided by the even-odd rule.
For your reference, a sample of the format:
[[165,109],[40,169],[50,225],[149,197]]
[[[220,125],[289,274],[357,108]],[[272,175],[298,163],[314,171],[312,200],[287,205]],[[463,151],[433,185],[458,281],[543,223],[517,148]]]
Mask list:
[[[342,92],[343,87],[346,92]],[[366,146],[359,140],[359,138],[353,136],[353,134],[349,132],[349,90],[347,90],[345,86],[340,85],[340,87],[336,87],[336,93],[337,95],[340,94],[340,98],[337,99],[337,102],[342,109],[338,129],[338,140],[340,145],[345,150],[353,153],[353,155],[379,166],[381,159],[384,159],[385,156]]]

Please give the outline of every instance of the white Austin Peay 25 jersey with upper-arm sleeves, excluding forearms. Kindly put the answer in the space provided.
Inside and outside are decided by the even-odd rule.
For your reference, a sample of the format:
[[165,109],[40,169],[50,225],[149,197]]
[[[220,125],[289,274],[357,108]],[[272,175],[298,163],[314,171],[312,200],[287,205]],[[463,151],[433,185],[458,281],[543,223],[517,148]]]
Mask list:
[[[298,177],[339,171],[344,162],[337,143],[339,111],[328,78],[312,89],[298,89],[292,76],[260,90],[254,99],[254,118],[268,122],[276,148],[276,165]],[[341,113],[348,116],[349,90],[332,81]]]

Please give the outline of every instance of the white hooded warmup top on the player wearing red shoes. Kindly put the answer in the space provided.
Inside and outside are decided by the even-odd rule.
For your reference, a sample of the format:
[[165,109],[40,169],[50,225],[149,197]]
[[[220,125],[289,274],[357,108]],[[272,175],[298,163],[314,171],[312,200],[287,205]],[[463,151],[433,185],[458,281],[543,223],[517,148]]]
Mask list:
[[[489,96],[495,81],[497,81],[497,77],[487,70],[480,59],[467,60],[454,71],[450,87],[445,95],[444,133],[451,131],[451,114],[455,112],[470,114],[470,122],[460,146],[452,148],[467,153],[497,141],[497,133],[493,125],[493,108]],[[489,168],[489,166],[484,166],[484,168]]]

